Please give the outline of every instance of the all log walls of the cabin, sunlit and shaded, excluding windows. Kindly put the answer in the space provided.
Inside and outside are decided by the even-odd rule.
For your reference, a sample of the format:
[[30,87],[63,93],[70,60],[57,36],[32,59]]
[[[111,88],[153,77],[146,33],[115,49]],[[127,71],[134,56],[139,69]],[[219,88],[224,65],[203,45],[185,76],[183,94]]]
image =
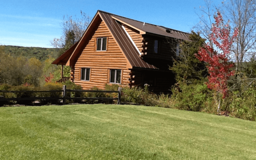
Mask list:
[[[170,50],[170,44],[167,43],[166,39],[151,35],[140,35],[139,31],[125,24],[122,25],[131,36],[142,56],[153,55],[158,59],[162,57],[162,59],[166,60],[166,56],[174,54],[174,52]],[[107,37],[107,51],[96,51],[97,37]],[[158,39],[160,43],[158,54],[153,53],[155,39]],[[75,63],[71,77],[73,77],[73,82],[81,85],[83,89],[91,89],[94,86],[99,89],[104,89],[106,83],[110,84],[110,69],[120,69],[122,70],[121,85],[143,87],[145,83],[150,83],[149,89],[151,91],[169,92],[170,87],[173,85],[173,75],[166,75],[170,73],[152,70],[128,69],[127,63],[129,62],[127,62],[107,26],[102,21],[100,25],[95,28],[91,39],[85,44],[81,55]],[[80,80],[81,68],[90,68],[89,81]]]

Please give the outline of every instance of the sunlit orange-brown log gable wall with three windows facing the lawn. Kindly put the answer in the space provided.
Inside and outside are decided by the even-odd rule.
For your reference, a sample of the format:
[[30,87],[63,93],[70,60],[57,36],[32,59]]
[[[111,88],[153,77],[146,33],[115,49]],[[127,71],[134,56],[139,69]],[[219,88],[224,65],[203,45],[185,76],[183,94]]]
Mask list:
[[[97,37],[108,37],[107,51],[96,51]],[[74,82],[83,89],[98,87],[104,89],[109,82],[109,69],[122,70],[122,85],[130,82],[130,71],[126,68],[127,60],[102,21],[92,38],[79,56],[74,70]],[[80,68],[90,68],[90,81],[80,81]]]

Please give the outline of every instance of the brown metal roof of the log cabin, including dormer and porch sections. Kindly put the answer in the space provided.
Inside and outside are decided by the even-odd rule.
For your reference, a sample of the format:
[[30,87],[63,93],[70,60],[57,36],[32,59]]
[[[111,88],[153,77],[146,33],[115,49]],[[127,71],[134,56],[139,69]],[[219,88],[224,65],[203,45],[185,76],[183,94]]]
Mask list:
[[[139,30],[141,34],[154,34],[156,36],[157,35],[168,36],[168,37],[173,37],[173,38],[178,38],[183,40],[189,40],[188,39],[189,33],[186,33],[186,32],[136,21],[133,19],[121,17],[118,15],[100,11],[100,10],[98,10],[96,15],[100,15],[102,20],[106,23],[111,34],[116,40],[118,46],[120,47],[121,51],[123,52],[124,56],[127,58],[127,60],[129,61],[132,67],[158,69],[158,67],[151,65],[149,61],[145,62],[140,57],[136,47],[132,44],[128,35],[125,33],[124,29],[122,28],[122,25],[120,22]],[[94,20],[97,19],[96,15],[94,16],[90,25],[93,23]],[[86,29],[85,33],[90,32],[91,30],[90,25]],[[77,59],[77,56],[79,56],[79,50],[80,50],[79,48],[83,46],[87,38],[90,38],[90,37],[87,37],[90,34],[85,34],[85,33],[83,37],[80,39],[80,41],[78,41],[79,43],[76,43],[74,46],[72,46],[63,55],[61,55],[58,59],[56,59],[52,64],[66,64],[66,65],[71,65],[71,63],[73,64],[74,62],[71,62],[71,61],[74,61],[75,59]]]

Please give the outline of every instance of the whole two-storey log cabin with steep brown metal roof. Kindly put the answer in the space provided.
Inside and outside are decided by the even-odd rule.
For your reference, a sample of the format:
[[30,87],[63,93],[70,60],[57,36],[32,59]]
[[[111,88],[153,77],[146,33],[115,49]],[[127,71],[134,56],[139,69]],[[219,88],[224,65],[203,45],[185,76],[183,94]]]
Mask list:
[[149,86],[170,93],[169,70],[179,42],[189,33],[98,10],[81,39],[52,64],[71,67],[71,81],[83,89],[106,84]]

